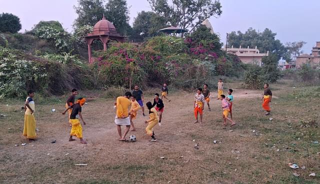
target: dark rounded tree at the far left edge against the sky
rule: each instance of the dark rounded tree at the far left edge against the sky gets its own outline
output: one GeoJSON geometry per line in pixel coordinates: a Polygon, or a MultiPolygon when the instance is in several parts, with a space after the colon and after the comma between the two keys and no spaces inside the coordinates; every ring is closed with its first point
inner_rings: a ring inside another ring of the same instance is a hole
{"type": "Polygon", "coordinates": [[[21,29],[20,18],[11,13],[0,14],[0,31],[16,33],[21,29]]]}

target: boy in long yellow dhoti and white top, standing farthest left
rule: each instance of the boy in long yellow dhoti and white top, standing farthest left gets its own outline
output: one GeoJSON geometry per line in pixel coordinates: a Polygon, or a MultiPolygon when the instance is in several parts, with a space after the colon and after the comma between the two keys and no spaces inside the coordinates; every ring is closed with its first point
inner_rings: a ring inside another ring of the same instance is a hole
{"type": "Polygon", "coordinates": [[[25,136],[29,141],[34,140],[36,137],[35,133],[35,119],[34,119],[34,91],[29,90],[28,96],[24,103],[24,127],[23,136],[25,136]]]}

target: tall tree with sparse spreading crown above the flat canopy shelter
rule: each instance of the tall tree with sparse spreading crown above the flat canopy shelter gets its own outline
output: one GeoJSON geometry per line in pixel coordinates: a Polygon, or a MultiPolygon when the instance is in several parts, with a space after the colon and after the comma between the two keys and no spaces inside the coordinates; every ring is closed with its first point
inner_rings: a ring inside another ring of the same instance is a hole
{"type": "Polygon", "coordinates": [[[218,0],[148,0],[152,11],[167,23],[192,32],[206,18],[222,13],[218,0]],[[169,5],[170,4],[170,5],[169,5]]]}

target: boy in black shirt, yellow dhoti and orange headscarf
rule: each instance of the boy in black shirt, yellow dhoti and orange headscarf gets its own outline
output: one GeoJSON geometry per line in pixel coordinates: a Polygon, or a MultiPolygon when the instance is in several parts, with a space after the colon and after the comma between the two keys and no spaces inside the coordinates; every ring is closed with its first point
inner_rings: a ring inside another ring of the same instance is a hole
{"type": "Polygon", "coordinates": [[[72,136],[76,136],[77,138],[80,139],[80,143],[82,144],[86,144],[86,141],[84,141],[82,138],[82,126],[80,124],[80,120],[78,117],[80,117],[81,121],[83,122],[83,125],[85,125],[85,122],[81,115],[81,111],[82,111],[81,107],[84,105],[84,103],[85,103],[85,98],[78,98],[75,104],[72,104],[70,107],[66,108],[65,111],[62,113],[64,115],[66,111],[68,111],[69,109],[72,109],[70,114],[70,122],[71,122],[72,128],[70,131],[69,141],[75,141],[75,139],[73,139],[72,136]]]}

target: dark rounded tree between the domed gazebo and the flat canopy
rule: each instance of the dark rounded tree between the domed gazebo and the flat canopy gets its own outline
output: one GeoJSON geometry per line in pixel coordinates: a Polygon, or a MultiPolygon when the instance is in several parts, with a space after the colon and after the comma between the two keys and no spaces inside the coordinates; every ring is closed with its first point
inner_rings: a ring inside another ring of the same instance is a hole
{"type": "Polygon", "coordinates": [[[155,36],[158,29],[165,26],[163,17],[152,11],[141,11],[134,18],[131,39],[142,41],[145,38],[155,36]]]}

